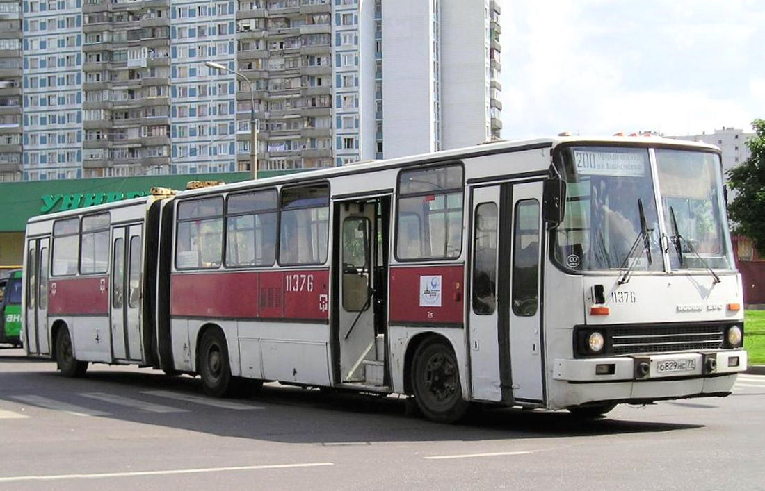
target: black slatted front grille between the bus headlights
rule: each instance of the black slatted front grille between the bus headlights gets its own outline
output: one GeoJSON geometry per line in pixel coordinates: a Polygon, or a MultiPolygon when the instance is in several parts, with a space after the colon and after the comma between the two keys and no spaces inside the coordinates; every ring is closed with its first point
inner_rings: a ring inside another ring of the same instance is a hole
{"type": "Polygon", "coordinates": [[[612,354],[643,354],[723,347],[724,326],[656,326],[614,328],[612,354]]]}

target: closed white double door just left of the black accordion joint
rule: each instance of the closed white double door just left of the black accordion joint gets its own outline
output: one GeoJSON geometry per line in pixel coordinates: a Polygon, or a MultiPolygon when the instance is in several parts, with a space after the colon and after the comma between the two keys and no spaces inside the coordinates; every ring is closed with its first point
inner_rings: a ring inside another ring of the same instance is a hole
{"type": "Polygon", "coordinates": [[[142,227],[128,225],[112,230],[111,323],[112,357],[142,360],[141,257],[142,227]]]}

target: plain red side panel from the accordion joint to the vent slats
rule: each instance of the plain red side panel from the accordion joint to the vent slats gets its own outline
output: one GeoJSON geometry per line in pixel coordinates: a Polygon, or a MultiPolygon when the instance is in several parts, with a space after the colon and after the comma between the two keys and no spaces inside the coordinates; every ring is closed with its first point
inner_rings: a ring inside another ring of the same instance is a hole
{"type": "Polygon", "coordinates": [[[258,273],[175,274],[171,315],[257,317],[258,273]]]}

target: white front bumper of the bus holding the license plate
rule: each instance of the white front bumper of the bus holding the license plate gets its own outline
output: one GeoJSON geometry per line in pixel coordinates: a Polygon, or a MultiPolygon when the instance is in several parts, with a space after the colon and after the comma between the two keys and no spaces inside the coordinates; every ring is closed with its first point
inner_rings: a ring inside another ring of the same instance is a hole
{"type": "Polygon", "coordinates": [[[637,382],[732,375],[744,370],[747,370],[747,352],[726,350],[711,353],[556,359],[552,378],[571,383],[637,382]]]}

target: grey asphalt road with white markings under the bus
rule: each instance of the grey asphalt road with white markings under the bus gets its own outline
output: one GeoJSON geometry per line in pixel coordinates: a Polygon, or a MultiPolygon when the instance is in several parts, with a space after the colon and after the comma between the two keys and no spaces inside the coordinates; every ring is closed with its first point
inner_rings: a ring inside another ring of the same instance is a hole
{"type": "Polygon", "coordinates": [[[392,397],[265,386],[209,399],[198,380],[0,350],[0,490],[765,489],[765,376],[725,399],[476,412],[463,425],[392,397]]]}

